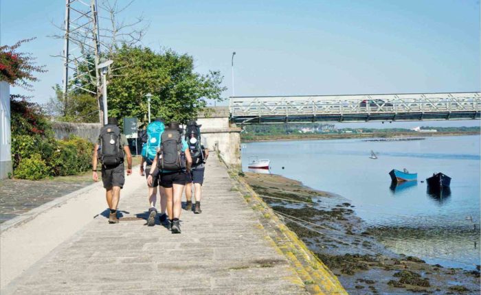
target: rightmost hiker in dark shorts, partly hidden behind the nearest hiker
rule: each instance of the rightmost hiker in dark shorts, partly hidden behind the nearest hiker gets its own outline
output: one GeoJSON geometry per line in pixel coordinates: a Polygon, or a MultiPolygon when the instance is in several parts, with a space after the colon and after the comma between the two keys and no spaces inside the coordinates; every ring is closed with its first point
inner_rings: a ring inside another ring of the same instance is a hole
{"type": "Polygon", "coordinates": [[[209,150],[205,148],[205,145],[201,141],[201,126],[197,125],[197,122],[191,120],[187,123],[186,128],[186,141],[189,145],[190,156],[192,157],[192,167],[190,168],[190,174],[187,175],[186,182],[186,210],[192,211],[192,183],[194,184],[194,198],[195,207],[194,213],[202,213],[201,210],[201,196],[202,196],[202,184],[204,181],[205,161],[209,156],[209,150]]]}

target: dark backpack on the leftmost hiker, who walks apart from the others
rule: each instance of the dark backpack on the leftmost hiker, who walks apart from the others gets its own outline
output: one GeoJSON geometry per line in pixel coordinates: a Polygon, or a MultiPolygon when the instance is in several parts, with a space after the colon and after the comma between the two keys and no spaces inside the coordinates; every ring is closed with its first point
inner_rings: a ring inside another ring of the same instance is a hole
{"type": "Polygon", "coordinates": [[[106,125],[100,130],[99,158],[105,167],[117,166],[124,162],[124,152],[120,146],[120,129],[116,125],[106,125]]]}

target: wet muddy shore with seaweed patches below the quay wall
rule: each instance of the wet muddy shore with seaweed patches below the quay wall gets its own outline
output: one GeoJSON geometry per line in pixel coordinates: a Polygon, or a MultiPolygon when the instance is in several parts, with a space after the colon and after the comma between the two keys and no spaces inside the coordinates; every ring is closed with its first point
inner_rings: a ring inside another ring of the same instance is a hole
{"type": "Polygon", "coordinates": [[[350,294],[480,294],[480,272],[430,265],[385,248],[348,200],[272,174],[245,180],[350,294]]]}

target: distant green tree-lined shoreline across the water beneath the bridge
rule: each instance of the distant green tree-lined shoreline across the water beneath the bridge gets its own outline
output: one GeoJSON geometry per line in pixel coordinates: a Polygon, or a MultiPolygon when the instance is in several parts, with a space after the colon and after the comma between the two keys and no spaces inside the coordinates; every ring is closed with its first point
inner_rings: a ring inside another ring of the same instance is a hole
{"type": "Polygon", "coordinates": [[[258,141],[304,141],[319,139],[369,139],[369,138],[393,138],[393,137],[457,137],[463,135],[479,135],[479,132],[372,132],[372,133],[339,133],[339,134],[289,134],[259,136],[256,139],[242,139],[242,143],[258,141]]]}

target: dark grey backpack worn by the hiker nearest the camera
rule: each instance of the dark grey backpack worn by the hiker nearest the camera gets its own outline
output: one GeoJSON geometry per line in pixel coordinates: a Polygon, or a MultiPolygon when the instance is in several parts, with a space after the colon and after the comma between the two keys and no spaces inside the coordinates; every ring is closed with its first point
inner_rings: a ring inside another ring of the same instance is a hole
{"type": "Polygon", "coordinates": [[[162,170],[181,171],[186,168],[182,152],[182,137],[177,129],[166,129],[160,137],[159,167],[162,170]]]}

